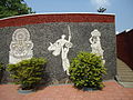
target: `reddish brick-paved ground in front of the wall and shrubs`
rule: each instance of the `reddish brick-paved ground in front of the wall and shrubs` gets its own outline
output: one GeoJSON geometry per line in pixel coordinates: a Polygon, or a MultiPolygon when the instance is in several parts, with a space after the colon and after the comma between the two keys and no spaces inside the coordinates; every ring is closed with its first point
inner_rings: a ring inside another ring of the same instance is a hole
{"type": "Polygon", "coordinates": [[[29,94],[18,93],[16,84],[0,84],[0,100],[133,100],[133,88],[123,88],[115,81],[104,82],[98,91],[81,91],[72,84],[50,86],[29,94]]]}

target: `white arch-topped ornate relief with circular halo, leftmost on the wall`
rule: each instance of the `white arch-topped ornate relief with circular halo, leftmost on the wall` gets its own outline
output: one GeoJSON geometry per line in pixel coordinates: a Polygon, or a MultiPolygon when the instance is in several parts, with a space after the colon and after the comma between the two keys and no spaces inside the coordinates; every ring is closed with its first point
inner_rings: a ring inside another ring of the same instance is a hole
{"type": "Polygon", "coordinates": [[[17,63],[33,56],[33,43],[25,28],[17,29],[12,36],[9,52],[9,63],[17,63]]]}

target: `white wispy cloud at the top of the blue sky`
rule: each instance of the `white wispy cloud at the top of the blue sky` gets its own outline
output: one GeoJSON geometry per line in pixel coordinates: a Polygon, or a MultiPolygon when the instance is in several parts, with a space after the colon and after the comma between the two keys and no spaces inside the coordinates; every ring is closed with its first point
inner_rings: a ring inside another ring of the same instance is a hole
{"type": "Polygon", "coordinates": [[[109,7],[111,6],[109,0],[91,0],[92,4],[94,4],[96,8],[99,7],[109,7]]]}

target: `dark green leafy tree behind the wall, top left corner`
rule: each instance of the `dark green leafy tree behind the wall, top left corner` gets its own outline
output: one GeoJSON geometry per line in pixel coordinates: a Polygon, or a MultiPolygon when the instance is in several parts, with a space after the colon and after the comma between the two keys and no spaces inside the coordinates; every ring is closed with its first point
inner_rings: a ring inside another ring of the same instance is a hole
{"type": "Polygon", "coordinates": [[[0,0],[0,18],[34,13],[24,0],[0,0]]]}

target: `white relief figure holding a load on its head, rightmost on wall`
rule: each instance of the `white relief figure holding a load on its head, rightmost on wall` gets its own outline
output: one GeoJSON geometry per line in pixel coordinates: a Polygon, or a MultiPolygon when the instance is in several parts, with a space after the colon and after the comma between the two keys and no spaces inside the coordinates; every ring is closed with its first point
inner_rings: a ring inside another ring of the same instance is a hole
{"type": "MultiPolygon", "coordinates": [[[[94,29],[91,32],[91,38],[90,38],[90,42],[91,42],[91,48],[92,48],[92,52],[91,53],[95,53],[96,56],[101,56],[102,60],[103,60],[103,49],[101,47],[101,32],[98,31],[96,29],[94,29]]],[[[103,60],[103,63],[105,63],[105,60],[103,60]]]]}

